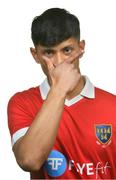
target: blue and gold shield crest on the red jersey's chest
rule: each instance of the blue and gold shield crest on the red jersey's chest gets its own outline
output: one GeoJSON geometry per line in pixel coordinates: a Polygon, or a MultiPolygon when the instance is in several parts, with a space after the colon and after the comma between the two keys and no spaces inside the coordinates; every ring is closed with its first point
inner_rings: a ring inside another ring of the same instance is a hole
{"type": "Polygon", "coordinates": [[[95,134],[98,140],[98,144],[108,145],[111,143],[112,125],[110,124],[98,124],[95,125],[95,134]]]}

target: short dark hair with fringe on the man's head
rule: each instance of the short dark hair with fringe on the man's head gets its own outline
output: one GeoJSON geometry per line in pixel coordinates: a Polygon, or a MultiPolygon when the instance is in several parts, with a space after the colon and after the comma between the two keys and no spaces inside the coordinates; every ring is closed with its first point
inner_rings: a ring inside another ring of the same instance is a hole
{"type": "Polygon", "coordinates": [[[79,20],[65,9],[48,9],[34,18],[31,37],[35,46],[54,46],[70,37],[80,40],[79,20]]]}

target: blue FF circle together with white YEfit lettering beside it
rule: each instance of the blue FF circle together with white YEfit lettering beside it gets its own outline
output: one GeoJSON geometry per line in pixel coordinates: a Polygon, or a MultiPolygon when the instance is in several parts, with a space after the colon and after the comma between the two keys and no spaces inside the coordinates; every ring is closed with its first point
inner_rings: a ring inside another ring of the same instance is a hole
{"type": "Polygon", "coordinates": [[[104,174],[106,177],[110,174],[111,166],[109,161],[106,162],[78,162],[74,159],[69,159],[66,161],[65,156],[57,151],[51,151],[48,159],[44,164],[45,172],[55,178],[58,176],[62,176],[67,170],[68,174],[77,173],[79,177],[90,177],[90,179],[99,179],[101,174],[104,174]]]}

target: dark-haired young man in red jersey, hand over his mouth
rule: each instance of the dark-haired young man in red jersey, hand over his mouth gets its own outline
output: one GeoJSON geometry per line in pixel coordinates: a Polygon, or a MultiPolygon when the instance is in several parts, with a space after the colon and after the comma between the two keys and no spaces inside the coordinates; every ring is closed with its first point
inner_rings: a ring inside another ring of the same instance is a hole
{"type": "Polygon", "coordinates": [[[31,30],[30,50],[47,78],[9,101],[17,163],[31,179],[116,179],[116,97],[81,75],[77,17],[48,9],[31,30]]]}

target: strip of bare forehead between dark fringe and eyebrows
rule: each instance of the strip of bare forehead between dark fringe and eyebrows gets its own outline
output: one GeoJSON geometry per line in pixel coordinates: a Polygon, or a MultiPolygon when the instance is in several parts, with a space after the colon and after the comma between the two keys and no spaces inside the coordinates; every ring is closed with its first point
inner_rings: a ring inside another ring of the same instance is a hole
{"type": "Polygon", "coordinates": [[[60,50],[60,49],[67,47],[67,46],[76,46],[76,45],[78,45],[78,40],[76,38],[69,38],[68,40],[65,40],[65,41],[63,41],[63,42],[61,42],[55,46],[48,47],[48,46],[38,45],[37,49],[38,50],[45,50],[45,49],[60,50]]]}

